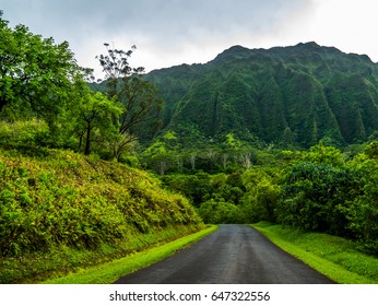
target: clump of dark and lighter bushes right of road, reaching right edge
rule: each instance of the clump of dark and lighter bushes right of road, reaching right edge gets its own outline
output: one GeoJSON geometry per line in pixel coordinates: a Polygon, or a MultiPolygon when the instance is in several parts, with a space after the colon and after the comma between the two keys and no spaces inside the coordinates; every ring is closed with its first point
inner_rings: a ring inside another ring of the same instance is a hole
{"type": "Polygon", "coordinates": [[[277,221],[303,229],[357,239],[377,254],[376,143],[345,162],[340,151],[322,144],[293,164],[282,185],[277,221]]]}

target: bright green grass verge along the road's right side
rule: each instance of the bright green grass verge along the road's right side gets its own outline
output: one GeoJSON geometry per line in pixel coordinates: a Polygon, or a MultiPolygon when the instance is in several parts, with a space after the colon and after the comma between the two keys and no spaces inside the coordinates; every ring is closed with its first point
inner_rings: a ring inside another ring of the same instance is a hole
{"type": "Polygon", "coordinates": [[[378,258],[347,239],[259,222],[251,225],[283,250],[341,284],[378,284],[378,258]]]}

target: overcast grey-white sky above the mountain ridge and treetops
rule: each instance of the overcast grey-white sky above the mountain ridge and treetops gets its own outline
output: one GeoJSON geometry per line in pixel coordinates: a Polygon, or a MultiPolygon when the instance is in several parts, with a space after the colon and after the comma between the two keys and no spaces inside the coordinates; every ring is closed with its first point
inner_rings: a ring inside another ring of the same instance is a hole
{"type": "Polygon", "coordinates": [[[97,69],[103,44],[129,49],[147,71],[212,60],[234,45],[315,40],[378,61],[376,0],[0,0],[11,26],[69,42],[79,64],[97,69]]]}

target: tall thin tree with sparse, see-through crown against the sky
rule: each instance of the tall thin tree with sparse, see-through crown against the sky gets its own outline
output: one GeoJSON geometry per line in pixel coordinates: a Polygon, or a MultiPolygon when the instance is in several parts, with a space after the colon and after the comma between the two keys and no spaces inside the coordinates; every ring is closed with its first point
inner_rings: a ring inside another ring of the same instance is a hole
{"type": "Polygon", "coordinates": [[[160,122],[163,101],[157,89],[143,79],[144,68],[131,68],[129,64],[135,46],[128,51],[110,48],[109,44],[105,47],[107,54],[97,58],[105,72],[106,93],[122,105],[119,133],[126,137],[126,142],[132,142],[147,126],[155,128],[160,122]]]}

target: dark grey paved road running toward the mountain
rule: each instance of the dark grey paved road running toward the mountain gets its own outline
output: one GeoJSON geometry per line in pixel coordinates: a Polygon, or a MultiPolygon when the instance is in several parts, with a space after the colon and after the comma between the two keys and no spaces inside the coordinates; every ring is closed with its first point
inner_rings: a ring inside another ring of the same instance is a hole
{"type": "Polygon", "coordinates": [[[332,283],[247,225],[220,229],[117,284],[318,284],[332,283]]]}

